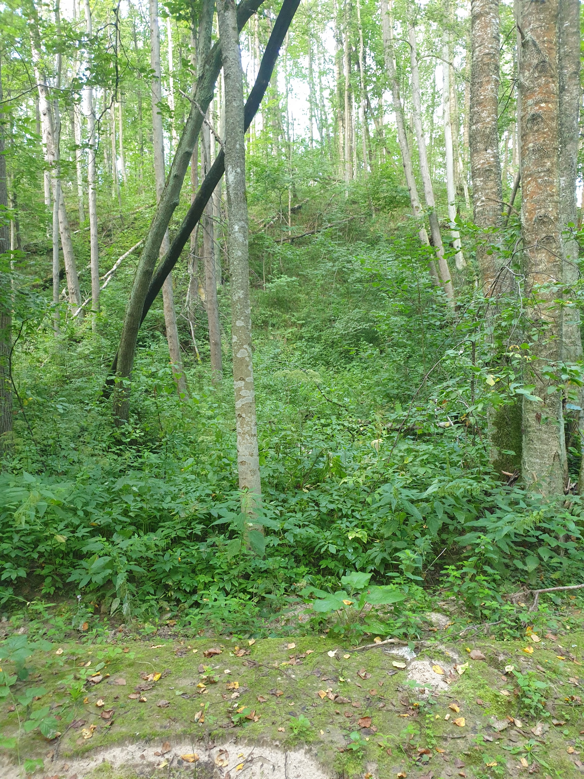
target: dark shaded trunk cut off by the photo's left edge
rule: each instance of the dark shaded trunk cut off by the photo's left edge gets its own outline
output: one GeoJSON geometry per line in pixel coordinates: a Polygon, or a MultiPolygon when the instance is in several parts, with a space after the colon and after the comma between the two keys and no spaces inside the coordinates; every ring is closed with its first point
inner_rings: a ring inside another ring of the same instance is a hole
{"type": "MultiPolygon", "coordinates": [[[[2,62],[0,62],[0,118],[2,111],[2,62]]],[[[0,122],[0,208],[8,208],[6,181],[6,157],[4,141],[5,123],[0,122]]],[[[9,227],[0,220],[0,254],[10,249],[9,227]]],[[[12,386],[10,382],[10,350],[12,348],[12,312],[10,295],[6,289],[0,293],[0,452],[6,453],[12,446],[12,386]]]]}

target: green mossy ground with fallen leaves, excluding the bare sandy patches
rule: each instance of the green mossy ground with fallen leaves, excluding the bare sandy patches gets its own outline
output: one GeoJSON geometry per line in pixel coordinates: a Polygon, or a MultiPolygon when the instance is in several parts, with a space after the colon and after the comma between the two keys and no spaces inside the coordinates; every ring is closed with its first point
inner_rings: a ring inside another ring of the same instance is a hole
{"type": "MultiPolygon", "coordinates": [[[[395,647],[356,652],[329,637],[259,639],[248,646],[247,640],[154,636],[145,641],[120,634],[105,646],[55,644],[50,652],[32,658],[32,681],[47,690],[33,710],[51,705],[61,717],[62,735],[49,743],[39,731],[21,731],[19,753],[44,758],[46,776],[55,775],[47,753],[51,755],[57,743],[59,759],[72,760],[89,750],[136,741],[220,744],[227,739],[271,742],[284,749],[309,742],[319,762],[340,777],[572,777],[584,770],[579,766],[584,749],[579,697],[584,632],[558,635],[557,640],[542,636],[539,643],[453,642],[441,639],[441,631],[433,635],[433,640],[413,645],[417,659],[426,657],[446,667],[458,656],[469,665],[462,675],[455,674],[448,688],[429,697],[408,684],[408,667],[396,668],[394,663],[402,658],[388,651],[395,647]],[[220,654],[204,657],[211,647],[220,654]],[[238,657],[235,647],[248,654],[238,657]],[[524,651],[532,647],[533,654],[524,651]],[[114,648],[122,652],[114,654],[114,648]],[[62,654],[56,654],[60,649],[62,654]],[[480,650],[485,659],[470,659],[467,649],[480,650]],[[78,675],[81,668],[91,671],[99,657],[106,661],[106,675],[96,685],[88,684],[83,702],[74,705],[62,680],[78,675]],[[539,716],[522,710],[515,679],[505,673],[510,664],[523,675],[534,671],[534,679],[548,683],[546,709],[539,716]],[[160,679],[145,681],[142,675],[150,673],[160,673],[160,679]],[[145,700],[129,698],[140,684],[150,685],[138,691],[145,700]],[[322,697],[327,692],[340,700],[322,697]],[[449,708],[451,704],[459,712],[449,708]],[[237,717],[242,707],[246,711],[240,714],[249,710],[252,718],[237,717]],[[110,720],[101,717],[104,710],[113,710],[110,720]],[[301,715],[310,724],[295,734],[301,715]],[[459,717],[464,717],[462,727],[453,722],[459,717]],[[520,726],[508,718],[518,719],[520,726]],[[493,722],[508,725],[498,731],[493,722]],[[92,724],[93,735],[83,738],[83,728],[87,731],[92,724]],[[353,736],[354,749],[351,733],[358,734],[353,736]]],[[[0,731],[6,736],[19,731],[18,707],[11,708],[11,700],[0,708],[0,731]]],[[[101,767],[101,774],[104,771],[118,776],[107,766],[101,767]]]]}

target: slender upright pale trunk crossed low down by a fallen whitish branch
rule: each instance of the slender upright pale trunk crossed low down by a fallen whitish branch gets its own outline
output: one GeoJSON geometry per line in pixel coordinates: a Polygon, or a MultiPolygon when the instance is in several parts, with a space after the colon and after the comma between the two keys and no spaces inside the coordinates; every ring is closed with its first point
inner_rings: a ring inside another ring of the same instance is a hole
{"type": "MultiPolygon", "coordinates": [[[[90,0],[84,0],[85,26],[87,40],[93,37],[90,0]]],[[[91,44],[90,44],[91,45],[91,44]]],[[[86,66],[88,63],[86,63],[86,66]]],[[[93,108],[93,87],[87,85],[83,90],[83,110],[87,119],[87,200],[90,213],[90,269],[91,269],[91,326],[97,329],[97,317],[100,312],[100,263],[97,244],[97,144],[95,137],[96,116],[93,108]]]]}

